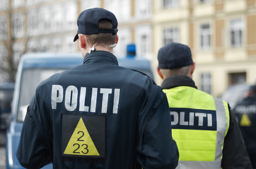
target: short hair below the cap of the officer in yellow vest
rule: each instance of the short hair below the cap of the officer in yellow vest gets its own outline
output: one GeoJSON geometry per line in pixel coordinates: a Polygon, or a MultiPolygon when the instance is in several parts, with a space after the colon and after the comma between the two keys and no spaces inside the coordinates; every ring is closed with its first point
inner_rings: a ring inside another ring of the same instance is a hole
{"type": "Polygon", "coordinates": [[[191,65],[187,65],[181,68],[173,68],[173,69],[160,69],[163,77],[169,77],[172,75],[189,75],[190,74],[191,65]]]}

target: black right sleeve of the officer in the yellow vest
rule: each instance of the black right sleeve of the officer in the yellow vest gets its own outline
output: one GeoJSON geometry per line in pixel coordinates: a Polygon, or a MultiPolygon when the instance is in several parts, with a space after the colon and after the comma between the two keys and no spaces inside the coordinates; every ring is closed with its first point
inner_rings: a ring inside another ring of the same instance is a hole
{"type": "Polygon", "coordinates": [[[235,114],[229,108],[230,112],[230,125],[228,132],[224,139],[223,145],[223,158],[221,161],[221,167],[226,168],[243,168],[250,169],[252,165],[250,158],[245,149],[245,143],[243,142],[243,136],[240,132],[238,123],[235,120],[235,114]]]}

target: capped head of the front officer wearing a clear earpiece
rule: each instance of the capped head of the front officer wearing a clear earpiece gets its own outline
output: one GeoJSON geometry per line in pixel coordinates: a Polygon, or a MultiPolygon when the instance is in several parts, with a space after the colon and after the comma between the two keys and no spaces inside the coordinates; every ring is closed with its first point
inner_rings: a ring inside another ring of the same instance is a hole
{"type": "Polygon", "coordinates": [[[74,42],[79,39],[82,51],[94,51],[98,44],[112,49],[118,42],[117,18],[103,8],[86,9],[78,16],[77,25],[74,42]]]}

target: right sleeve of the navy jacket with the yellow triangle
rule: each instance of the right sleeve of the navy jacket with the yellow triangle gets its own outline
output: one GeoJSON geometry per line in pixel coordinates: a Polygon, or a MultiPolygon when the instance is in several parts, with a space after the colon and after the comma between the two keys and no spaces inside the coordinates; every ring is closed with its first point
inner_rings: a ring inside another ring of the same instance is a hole
{"type": "Polygon", "coordinates": [[[146,86],[139,115],[137,160],[145,169],[175,168],[179,152],[171,134],[170,111],[161,87],[146,86]]]}

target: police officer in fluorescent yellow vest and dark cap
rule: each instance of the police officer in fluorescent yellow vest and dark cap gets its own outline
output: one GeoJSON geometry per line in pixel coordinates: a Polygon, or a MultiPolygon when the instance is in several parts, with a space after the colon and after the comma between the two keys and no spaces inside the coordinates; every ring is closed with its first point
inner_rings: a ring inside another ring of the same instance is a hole
{"type": "Polygon", "coordinates": [[[158,75],[168,97],[177,168],[252,168],[243,137],[226,101],[197,89],[187,45],[171,42],[158,51],[158,75]]]}

